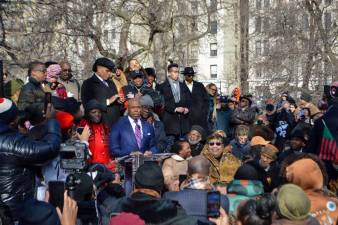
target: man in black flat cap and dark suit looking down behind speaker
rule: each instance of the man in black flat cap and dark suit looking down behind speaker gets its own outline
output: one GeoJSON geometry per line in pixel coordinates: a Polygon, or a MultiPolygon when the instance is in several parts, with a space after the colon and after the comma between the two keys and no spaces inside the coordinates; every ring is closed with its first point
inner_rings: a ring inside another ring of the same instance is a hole
{"type": "Polygon", "coordinates": [[[108,58],[98,58],[93,65],[93,76],[83,82],[81,99],[84,105],[96,99],[105,106],[103,122],[110,128],[121,116],[121,101],[110,76],[115,69],[108,58]]]}

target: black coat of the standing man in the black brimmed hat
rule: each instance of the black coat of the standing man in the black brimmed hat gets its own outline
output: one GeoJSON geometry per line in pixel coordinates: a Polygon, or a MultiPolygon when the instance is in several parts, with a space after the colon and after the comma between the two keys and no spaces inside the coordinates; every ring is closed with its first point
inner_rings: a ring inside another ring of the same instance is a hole
{"type": "Polygon", "coordinates": [[[194,103],[191,105],[191,125],[200,125],[205,131],[208,131],[209,96],[201,82],[193,82],[191,99],[194,103]]]}

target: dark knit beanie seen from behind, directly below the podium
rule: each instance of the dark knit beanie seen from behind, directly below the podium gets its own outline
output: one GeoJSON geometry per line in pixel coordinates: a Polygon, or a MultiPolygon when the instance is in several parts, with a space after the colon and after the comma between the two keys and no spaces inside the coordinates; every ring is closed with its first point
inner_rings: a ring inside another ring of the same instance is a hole
{"type": "Polygon", "coordinates": [[[135,174],[135,187],[146,188],[160,193],[164,186],[164,177],[160,166],[154,162],[145,162],[135,174]]]}

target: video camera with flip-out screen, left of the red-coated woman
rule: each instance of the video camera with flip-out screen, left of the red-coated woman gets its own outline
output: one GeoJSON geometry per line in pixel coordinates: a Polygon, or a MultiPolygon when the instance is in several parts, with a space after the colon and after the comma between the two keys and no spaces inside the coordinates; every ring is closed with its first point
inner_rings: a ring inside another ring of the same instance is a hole
{"type": "Polygon", "coordinates": [[[61,144],[60,165],[66,171],[84,170],[88,157],[88,148],[84,143],[69,141],[61,144]]]}

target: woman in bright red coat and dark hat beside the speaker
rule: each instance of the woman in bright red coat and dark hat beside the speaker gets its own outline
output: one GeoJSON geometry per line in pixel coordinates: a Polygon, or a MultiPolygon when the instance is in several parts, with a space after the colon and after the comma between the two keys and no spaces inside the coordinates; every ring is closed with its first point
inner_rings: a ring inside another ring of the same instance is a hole
{"type": "Polygon", "coordinates": [[[91,153],[89,163],[103,164],[115,172],[115,161],[110,155],[108,146],[109,130],[102,122],[102,111],[103,106],[97,100],[90,100],[85,105],[85,116],[78,127],[84,128],[83,132],[89,130],[88,144],[91,153]]]}

